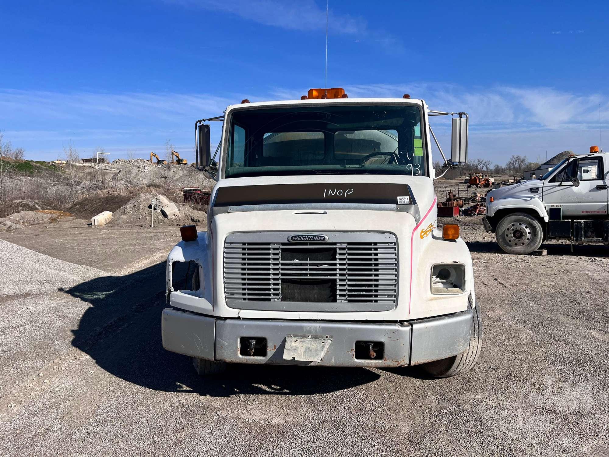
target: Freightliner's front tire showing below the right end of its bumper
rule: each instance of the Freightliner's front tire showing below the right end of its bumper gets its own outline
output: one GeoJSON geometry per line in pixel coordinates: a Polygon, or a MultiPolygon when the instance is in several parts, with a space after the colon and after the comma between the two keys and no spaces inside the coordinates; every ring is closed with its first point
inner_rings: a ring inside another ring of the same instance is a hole
{"type": "Polygon", "coordinates": [[[476,364],[482,349],[482,313],[480,305],[476,303],[474,311],[474,325],[471,329],[470,346],[465,352],[442,360],[421,365],[423,369],[435,378],[449,378],[462,374],[476,364]]]}

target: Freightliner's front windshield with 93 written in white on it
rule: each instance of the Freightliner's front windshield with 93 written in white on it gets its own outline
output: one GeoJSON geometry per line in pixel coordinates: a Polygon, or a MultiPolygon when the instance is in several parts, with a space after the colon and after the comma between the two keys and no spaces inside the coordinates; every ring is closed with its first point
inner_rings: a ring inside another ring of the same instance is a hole
{"type": "Polygon", "coordinates": [[[225,177],[427,175],[420,108],[326,105],[234,112],[225,177]]]}

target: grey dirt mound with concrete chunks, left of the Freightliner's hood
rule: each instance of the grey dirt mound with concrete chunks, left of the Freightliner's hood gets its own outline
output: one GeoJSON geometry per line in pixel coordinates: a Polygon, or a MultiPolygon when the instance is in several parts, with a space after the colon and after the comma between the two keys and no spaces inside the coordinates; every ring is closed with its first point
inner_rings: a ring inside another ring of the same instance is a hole
{"type": "Polygon", "coordinates": [[[139,225],[140,227],[149,227],[152,213],[152,199],[160,202],[155,205],[155,225],[205,225],[207,223],[207,215],[203,211],[193,210],[187,205],[176,204],[156,192],[143,192],[121,208],[118,208],[118,210],[113,211],[112,221],[108,225],[118,225],[119,227],[139,225]],[[177,214],[167,218],[163,215],[167,211],[161,211],[161,207],[165,209],[172,204],[177,208],[177,214]]]}

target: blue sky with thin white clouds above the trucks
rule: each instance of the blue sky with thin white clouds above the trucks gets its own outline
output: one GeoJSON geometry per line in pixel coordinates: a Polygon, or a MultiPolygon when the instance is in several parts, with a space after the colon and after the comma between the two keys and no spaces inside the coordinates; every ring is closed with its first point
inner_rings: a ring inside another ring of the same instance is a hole
{"type": "MultiPolygon", "coordinates": [[[[323,87],[325,2],[2,2],[0,130],[26,158],[194,159],[194,121],[323,87]]],[[[328,87],[470,113],[470,157],[609,148],[609,2],[329,1],[328,87]]],[[[434,122],[439,122],[434,119],[434,122]]],[[[219,129],[213,131],[213,141],[219,129]]],[[[437,124],[442,143],[448,124],[437,124]]],[[[448,149],[449,144],[446,144],[448,149]]],[[[506,157],[507,156],[507,157],[506,157]]]]}

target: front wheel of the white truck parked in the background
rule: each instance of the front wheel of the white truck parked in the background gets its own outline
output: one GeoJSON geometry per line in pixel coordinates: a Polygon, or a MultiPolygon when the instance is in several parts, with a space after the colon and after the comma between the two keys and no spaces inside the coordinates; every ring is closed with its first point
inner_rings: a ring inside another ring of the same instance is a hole
{"type": "Polygon", "coordinates": [[[508,214],[499,221],[495,236],[499,247],[509,254],[528,254],[539,249],[543,228],[530,214],[508,214]]]}

